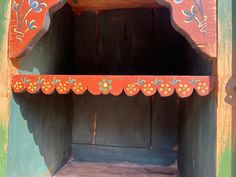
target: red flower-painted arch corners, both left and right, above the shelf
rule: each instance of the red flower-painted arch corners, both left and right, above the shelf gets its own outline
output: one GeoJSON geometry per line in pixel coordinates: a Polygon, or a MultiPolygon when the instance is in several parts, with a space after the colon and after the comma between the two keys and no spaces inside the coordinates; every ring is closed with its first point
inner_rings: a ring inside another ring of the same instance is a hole
{"type": "MultiPolygon", "coordinates": [[[[156,1],[171,9],[173,26],[194,48],[210,58],[216,58],[216,0],[156,1]]],[[[22,57],[34,47],[48,30],[51,15],[65,2],[66,0],[12,0],[10,58],[22,57]]]]}

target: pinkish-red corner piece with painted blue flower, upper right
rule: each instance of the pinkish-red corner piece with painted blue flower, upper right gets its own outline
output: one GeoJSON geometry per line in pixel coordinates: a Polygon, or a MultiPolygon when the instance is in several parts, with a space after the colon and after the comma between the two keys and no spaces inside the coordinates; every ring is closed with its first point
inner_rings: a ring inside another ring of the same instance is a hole
{"type": "Polygon", "coordinates": [[[172,12],[173,26],[201,53],[216,58],[216,0],[156,0],[172,12]]]}

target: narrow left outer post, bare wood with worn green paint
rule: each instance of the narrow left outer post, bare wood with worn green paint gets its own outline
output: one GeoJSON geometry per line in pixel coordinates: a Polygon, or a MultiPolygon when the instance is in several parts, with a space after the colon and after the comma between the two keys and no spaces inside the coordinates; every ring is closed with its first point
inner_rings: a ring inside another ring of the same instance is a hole
{"type": "Polygon", "coordinates": [[[8,61],[8,23],[10,1],[0,0],[0,176],[7,174],[8,122],[10,109],[9,78],[15,74],[8,61]]]}

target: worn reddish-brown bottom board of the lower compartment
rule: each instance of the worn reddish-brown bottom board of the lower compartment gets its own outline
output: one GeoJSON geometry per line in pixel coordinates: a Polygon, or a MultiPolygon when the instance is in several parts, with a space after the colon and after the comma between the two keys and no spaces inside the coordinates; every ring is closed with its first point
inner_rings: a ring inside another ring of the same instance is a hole
{"type": "Polygon", "coordinates": [[[69,161],[54,177],[179,177],[175,166],[69,161]]]}

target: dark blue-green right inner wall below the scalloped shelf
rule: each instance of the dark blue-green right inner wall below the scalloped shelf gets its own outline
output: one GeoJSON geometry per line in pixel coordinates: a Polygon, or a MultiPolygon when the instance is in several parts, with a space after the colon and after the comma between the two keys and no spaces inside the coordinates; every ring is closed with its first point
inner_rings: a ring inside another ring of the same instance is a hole
{"type": "Polygon", "coordinates": [[[214,93],[206,97],[195,93],[180,100],[178,157],[181,177],[216,176],[215,101],[214,93]]]}

